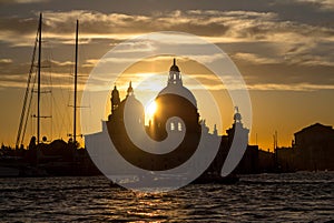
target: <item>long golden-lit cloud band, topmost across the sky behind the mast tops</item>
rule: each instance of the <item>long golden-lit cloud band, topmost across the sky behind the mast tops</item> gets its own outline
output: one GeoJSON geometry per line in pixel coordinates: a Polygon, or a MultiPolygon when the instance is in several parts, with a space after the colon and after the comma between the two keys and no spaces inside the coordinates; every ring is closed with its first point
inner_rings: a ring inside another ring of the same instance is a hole
{"type": "MultiPolygon", "coordinates": [[[[101,13],[97,11],[73,10],[66,12],[46,11],[45,31],[49,38],[72,39],[75,21],[80,20],[81,38],[126,39],[134,34],[153,31],[183,31],[202,37],[217,37],[224,42],[279,41],[292,42],[303,37],[324,39],[334,34],[333,29],[310,24],[281,21],[274,12],[189,10],[141,16],[125,13],[101,13]]],[[[37,21],[33,19],[3,18],[2,31],[6,33],[27,33],[33,36],[37,21]],[[14,26],[11,26],[14,24],[14,26]]],[[[13,41],[2,38],[3,41],[13,41]]],[[[18,39],[17,39],[18,40],[18,39]]],[[[299,39],[301,41],[301,39],[299,39]]]]}

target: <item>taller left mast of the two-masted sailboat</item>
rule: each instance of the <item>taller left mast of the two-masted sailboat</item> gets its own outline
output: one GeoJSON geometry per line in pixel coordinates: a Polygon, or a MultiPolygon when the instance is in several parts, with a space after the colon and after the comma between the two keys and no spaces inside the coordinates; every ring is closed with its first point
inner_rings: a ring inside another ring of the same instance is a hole
{"type": "Polygon", "coordinates": [[[40,13],[40,16],[39,16],[39,37],[38,37],[37,143],[40,142],[40,68],[41,68],[41,31],[42,31],[42,13],[40,13]]]}

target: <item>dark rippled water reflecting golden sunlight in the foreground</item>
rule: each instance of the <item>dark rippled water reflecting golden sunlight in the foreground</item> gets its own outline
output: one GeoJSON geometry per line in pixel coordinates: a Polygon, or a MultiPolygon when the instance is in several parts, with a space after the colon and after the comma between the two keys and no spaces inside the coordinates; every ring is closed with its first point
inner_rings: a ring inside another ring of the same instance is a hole
{"type": "Polygon", "coordinates": [[[242,176],[161,194],[105,178],[0,179],[0,222],[333,222],[334,172],[242,176]]]}

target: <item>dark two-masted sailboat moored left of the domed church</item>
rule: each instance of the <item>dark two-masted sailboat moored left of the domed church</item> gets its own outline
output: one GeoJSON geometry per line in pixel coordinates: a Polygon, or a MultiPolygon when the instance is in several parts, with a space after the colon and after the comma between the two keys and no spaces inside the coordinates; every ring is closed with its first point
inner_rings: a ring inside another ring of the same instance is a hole
{"type": "MultiPolygon", "coordinates": [[[[80,150],[77,143],[77,82],[78,82],[78,36],[79,21],[76,26],[76,54],[75,54],[75,74],[73,74],[73,129],[72,133],[68,134],[71,139],[65,142],[61,139],[47,142],[46,138],[41,138],[41,119],[47,116],[41,115],[41,48],[42,48],[42,13],[39,17],[39,24],[32,61],[27,82],[26,94],[23,98],[23,107],[18,128],[16,150],[23,151],[19,155],[21,161],[16,164],[16,169],[20,170],[20,175],[23,176],[45,176],[45,175],[95,175],[99,174],[86,150],[80,150]],[[33,78],[37,55],[37,74],[33,78]],[[21,145],[24,140],[28,118],[30,118],[32,93],[35,92],[33,79],[37,79],[37,114],[36,118],[37,135],[31,136],[27,150],[21,145]]],[[[0,163],[1,164],[1,163],[0,163]]],[[[0,165],[1,166],[1,165],[0,165]]],[[[1,175],[0,175],[1,176],[1,175]]]]}

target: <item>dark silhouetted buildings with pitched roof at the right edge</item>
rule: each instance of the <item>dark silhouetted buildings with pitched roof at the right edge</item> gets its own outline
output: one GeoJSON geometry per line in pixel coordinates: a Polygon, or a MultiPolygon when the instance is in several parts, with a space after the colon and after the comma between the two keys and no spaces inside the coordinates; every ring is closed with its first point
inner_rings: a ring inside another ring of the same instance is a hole
{"type": "Polygon", "coordinates": [[[259,151],[261,172],[333,171],[334,130],[315,123],[294,133],[291,146],[259,151]]]}

